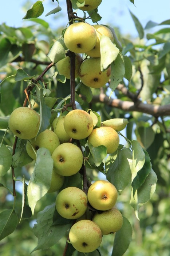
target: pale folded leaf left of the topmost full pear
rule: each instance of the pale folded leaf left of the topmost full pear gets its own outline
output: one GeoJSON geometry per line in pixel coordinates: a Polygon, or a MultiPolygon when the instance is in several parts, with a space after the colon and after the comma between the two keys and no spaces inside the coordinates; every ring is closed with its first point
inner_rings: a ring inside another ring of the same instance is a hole
{"type": "Polygon", "coordinates": [[[54,45],[51,47],[50,52],[47,55],[52,62],[56,63],[66,57],[64,46],[65,44],[63,39],[59,39],[54,43],[54,45]]]}

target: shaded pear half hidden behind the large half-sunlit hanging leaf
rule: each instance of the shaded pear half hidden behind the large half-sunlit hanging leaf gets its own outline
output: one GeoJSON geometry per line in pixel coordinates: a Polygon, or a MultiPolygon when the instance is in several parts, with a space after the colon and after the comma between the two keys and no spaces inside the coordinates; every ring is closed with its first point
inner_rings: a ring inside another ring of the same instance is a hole
{"type": "Polygon", "coordinates": [[[64,184],[64,176],[56,173],[54,169],[52,170],[51,187],[49,188],[47,193],[58,191],[64,184]]]}

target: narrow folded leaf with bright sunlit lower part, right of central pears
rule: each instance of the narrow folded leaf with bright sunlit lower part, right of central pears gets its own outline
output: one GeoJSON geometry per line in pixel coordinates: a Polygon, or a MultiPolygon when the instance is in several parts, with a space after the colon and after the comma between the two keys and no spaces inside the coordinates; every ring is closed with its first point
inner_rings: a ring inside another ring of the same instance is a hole
{"type": "Polygon", "coordinates": [[[134,178],[137,176],[137,173],[139,170],[142,169],[144,163],[145,163],[145,153],[143,151],[143,148],[137,142],[137,140],[132,141],[132,182],[134,178]]]}

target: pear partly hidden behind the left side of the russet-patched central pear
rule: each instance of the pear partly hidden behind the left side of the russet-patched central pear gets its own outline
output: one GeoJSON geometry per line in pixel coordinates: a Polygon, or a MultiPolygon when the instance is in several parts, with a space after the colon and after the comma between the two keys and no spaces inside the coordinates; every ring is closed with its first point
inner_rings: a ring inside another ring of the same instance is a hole
{"type": "Polygon", "coordinates": [[[67,135],[65,129],[64,129],[64,118],[65,116],[60,116],[54,119],[52,122],[52,130],[55,132],[55,134],[58,136],[60,143],[69,142],[70,136],[67,135]]]}

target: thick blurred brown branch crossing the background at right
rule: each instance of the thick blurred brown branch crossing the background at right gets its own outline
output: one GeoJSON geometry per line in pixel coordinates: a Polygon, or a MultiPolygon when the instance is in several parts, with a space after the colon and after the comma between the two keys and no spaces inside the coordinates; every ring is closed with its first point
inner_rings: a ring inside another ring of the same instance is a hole
{"type": "MultiPolygon", "coordinates": [[[[84,96],[82,95],[82,99],[84,96]]],[[[114,108],[122,109],[124,111],[138,111],[146,114],[150,114],[152,116],[169,116],[170,115],[170,104],[165,106],[156,106],[151,104],[144,104],[141,101],[134,103],[132,101],[121,101],[120,99],[109,99],[104,93],[100,93],[99,95],[94,95],[92,97],[91,103],[94,102],[103,102],[108,106],[112,106],[114,108]]]]}

